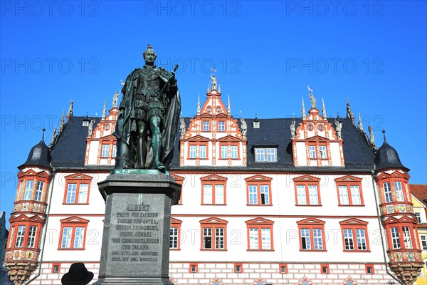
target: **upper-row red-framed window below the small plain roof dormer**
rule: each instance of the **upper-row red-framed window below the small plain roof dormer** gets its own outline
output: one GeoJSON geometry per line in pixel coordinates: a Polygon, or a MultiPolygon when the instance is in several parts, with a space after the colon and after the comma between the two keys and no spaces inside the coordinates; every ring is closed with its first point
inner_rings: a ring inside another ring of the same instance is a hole
{"type": "Polygon", "coordinates": [[[271,180],[273,178],[263,175],[255,175],[246,180],[246,195],[248,205],[270,205],[271,201],[271,180]]]}

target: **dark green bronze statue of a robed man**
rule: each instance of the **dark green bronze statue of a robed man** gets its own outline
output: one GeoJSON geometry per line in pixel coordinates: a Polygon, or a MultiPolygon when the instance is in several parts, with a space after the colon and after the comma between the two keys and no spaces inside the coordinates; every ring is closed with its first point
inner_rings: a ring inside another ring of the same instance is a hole
{"type": "Polygon", "coordinates": [[[154,66],[152,46],[145,65],[127,76],[113,135],[117,138],[116,169],[156,169],[167,173],[181,112],[174,72],[154,66]]]}

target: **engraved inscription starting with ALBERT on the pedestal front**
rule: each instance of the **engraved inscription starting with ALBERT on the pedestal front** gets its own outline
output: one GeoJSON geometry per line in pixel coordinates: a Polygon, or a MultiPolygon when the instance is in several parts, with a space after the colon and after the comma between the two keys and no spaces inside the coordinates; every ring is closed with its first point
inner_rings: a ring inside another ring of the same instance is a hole
{"type": "Polygon", "coordinates": [[[112,262],[157,262],[159,240],[159,213],[149,204],[128,204],[117,212],[117,235],[112,244],[120,244],[120,251],[111,253],[112,262]]]}

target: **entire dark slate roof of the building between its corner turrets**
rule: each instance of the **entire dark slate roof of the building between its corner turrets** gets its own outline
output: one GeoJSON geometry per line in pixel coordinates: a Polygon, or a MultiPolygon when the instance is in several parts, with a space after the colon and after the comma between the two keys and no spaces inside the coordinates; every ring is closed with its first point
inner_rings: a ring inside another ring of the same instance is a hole
{"type": "MultiPolygon", "coordinates": [[[[86,135],[88,127],[82,126],[85,117],[72,117],[65,125],[51,152],[52,166],[56,168],[84,168],[85,170],[109,170],[111,166],[84,166],[86,135]]],[[[95,118],[100,122],[100,118],[95,118]]],[[[190,118],[184,118],[186,125],[190,118]]],[[[300,118],[258,119],[260,128],[253,129],[253,119],[245,119],[248,124],[248,166],[247,167],[204,167],[204,170],[270,170],[270,171],[301,171],[301,172],[369,172],[374,169],[374,152],[369,147],[364,135],[359,133],[351,120],[342,118],[342,138],[345,167],[295,167],[292,160],[290,145],[290,124],[300,118]],[[255,162],[253,145],[278,145],[278,162],[255,162]]],[[[330,123],[334,118],[328,119],[330,123]]],[[[177,132],[172,169],[200,170],[200,167],[179,167],[179,136],[177,132]]]]}

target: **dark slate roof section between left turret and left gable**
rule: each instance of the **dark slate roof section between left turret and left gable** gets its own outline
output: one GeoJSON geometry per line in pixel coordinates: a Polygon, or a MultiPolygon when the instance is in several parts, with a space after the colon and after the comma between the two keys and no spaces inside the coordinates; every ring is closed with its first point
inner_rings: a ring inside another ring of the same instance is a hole
{"type": "MultiPolygon", "coordinates": [[[[88,127],[83,127],[85,117],[71,117],[64,125],[63,132],[56,141],[52,155],[53,167],[84,167],[86,152],[86,136],[88,127]]],[[[95,118],[95,125],[100,123],[95,118]]]]}

